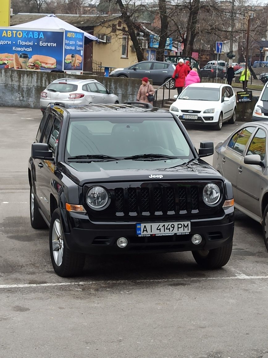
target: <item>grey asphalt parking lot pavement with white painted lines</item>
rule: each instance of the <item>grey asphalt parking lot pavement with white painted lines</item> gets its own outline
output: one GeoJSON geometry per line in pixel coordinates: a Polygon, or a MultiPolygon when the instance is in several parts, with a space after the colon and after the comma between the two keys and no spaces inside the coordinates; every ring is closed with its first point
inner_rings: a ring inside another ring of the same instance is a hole
{"type": "MultiPolygon", "coordinates": [[[[1,107],[0,117],[0,357],[263,357],[268,253],[260,224],[236,212],[233,253],[219,270],[199,269],[187,252],[88,257],[81,277],[59,277],[48,229],[32,229],[29,217],[27,160],[41,112],[1,107]]],[[[237,125],[189,134],[198,148],[237,125]]]]}

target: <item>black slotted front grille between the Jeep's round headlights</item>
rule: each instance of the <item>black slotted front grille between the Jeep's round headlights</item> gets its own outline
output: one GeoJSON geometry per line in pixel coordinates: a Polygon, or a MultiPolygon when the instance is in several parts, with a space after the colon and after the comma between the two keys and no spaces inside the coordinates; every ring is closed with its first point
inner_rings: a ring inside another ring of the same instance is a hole
{"type": "Polygon", "coordinates": [[[198,187],[153,187],[115,189],[117,215],[172,215],[197,213],[198,187]]]}

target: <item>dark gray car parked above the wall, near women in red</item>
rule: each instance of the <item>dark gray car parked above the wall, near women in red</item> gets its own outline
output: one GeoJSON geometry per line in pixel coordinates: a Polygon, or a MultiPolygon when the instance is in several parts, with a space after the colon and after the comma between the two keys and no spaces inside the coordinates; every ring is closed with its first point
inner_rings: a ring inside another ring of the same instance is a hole
{"type": "Polygon", "coordinates": [[[172,78],[174,70],[175,64],[170,62],[142,61],[129,67],[116,68],[109,74],[109,76],[140,79],[142,77],[148,77],[153,80],[153,84],[158,86],[165,83],[170,78],[166,87],[173,89],[175,88],[175,81],[172,78]]]}

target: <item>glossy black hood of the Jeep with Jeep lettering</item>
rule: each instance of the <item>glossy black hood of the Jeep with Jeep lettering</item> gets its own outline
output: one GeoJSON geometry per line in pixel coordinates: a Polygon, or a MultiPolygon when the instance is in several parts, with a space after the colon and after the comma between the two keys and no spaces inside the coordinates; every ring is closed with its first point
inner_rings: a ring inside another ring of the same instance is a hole
{"type": "Polygon", "coordinates": [[[182,163],[181,159],[166,161],[118,160],[91,163],[59,162],[57,168],[80,186],[86,183],[115,181],[222,179],[221,174],[202,159],[197,159],[191,164],[182,163]]]}

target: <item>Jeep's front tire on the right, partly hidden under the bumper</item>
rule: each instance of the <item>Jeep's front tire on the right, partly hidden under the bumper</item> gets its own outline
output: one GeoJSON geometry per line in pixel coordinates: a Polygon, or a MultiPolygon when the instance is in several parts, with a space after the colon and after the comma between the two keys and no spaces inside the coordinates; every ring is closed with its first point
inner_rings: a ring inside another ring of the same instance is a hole
{"type": "Polygon", "coordinates": [[[212,250],[192,251],[196,263],[206,269],[219,269],[227,264],[232,253],[233,240],[222,247],[212,250]]]}

